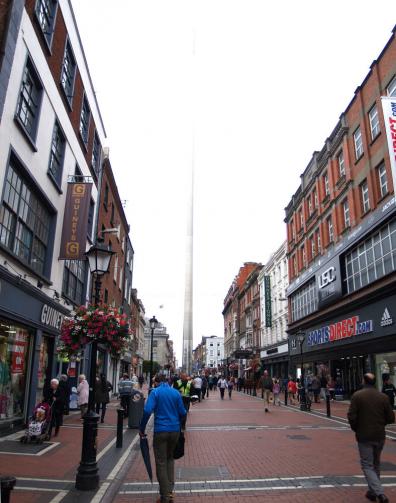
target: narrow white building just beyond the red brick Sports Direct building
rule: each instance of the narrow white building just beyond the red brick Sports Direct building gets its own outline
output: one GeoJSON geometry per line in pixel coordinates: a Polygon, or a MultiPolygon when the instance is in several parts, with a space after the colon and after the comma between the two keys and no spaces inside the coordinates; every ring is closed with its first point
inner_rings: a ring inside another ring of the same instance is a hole
{"type": "Polygon", "coordinates": [[[272,376],[287,377],[289,348],[286,332],[288,320],[285,293],[288,286],[286,242],[271,255],[259,274],[258,283],[261,310],[261,363],[272,376]]]}

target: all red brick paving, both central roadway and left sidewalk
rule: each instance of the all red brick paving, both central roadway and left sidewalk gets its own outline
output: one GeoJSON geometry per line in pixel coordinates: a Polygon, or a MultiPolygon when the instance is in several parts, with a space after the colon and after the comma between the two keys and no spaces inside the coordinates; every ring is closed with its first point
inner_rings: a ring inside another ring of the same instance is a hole
{"type": "MultiPolygon", "coordinates": [[[[74,415],[54,439],[59,444],[42,456],[0,452],[2,474],[18,479],[12,503],[155,502],[158,486],[148,480],[136,431],[126,430],[123,449],[115,448],[116,407],[113,402],[99,429],[96,495],[73,489],[82,436],[74,415]]],[[[232,400],[221,401],[213,392],[191,408],[186,454],[176,461],[177,502],[367,501],[354,435],[342,419],[347,407],[332,403],[337,418],[331,420],[323,415],[323,403],[312,414],[283,405],[265,414],[260,398],[234,393],[232,400]]],[[[394,426],[388,434],[382,474],[390,500],[396,501],[394,426]]]]}

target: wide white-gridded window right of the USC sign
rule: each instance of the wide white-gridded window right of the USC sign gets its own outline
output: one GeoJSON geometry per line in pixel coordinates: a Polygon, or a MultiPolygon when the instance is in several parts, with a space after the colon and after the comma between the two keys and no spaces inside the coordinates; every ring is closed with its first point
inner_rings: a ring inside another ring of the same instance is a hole
{"type": "Polygon", "coordinates": [[[345,285],[354,292],[396,270],[396,219],[345,255],[345,285]]]}

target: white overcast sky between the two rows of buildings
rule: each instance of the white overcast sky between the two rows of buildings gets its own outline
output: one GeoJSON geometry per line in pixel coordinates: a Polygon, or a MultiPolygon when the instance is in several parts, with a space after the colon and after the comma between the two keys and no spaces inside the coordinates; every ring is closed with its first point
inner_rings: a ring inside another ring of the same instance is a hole
{"type": "Polygon", "coordinates": [[[390,38],[394,0],[72,3],[127,201],[133,286],[181,364],[193,157],[195,346],[223,335],[243,262],[285,239],[299,175],[390,38]]]}

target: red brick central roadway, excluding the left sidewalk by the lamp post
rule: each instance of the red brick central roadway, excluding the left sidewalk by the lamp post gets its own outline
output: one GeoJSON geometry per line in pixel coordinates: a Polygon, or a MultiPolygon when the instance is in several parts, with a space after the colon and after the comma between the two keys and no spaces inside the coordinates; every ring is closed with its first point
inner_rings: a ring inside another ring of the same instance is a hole
{"type": "MultiPolygon", "coordinates": [[[[347,404],[334,406],[341,419],[283,405],[263,409],[260,398],[234,393],[222,401],[217,392],[191,408],[185,456],[176,461],[177,503],[367,501],[354,434],[342,420],[347,404]]],[[[382,478],[396,501],[396,434],[389,435],[382,478]]],[[[117,493],[116,503],[156,501],[157,484],[138,452],[117,493]]]]}

